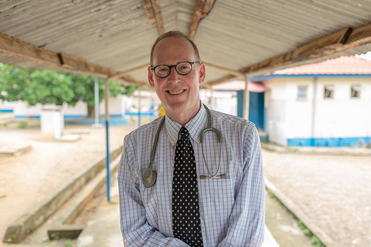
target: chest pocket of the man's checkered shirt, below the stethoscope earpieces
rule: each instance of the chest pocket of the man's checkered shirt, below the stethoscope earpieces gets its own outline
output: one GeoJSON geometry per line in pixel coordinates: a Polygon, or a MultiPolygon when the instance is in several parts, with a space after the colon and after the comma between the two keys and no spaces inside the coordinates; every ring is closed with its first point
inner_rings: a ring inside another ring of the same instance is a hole
{"type": "Polygon", "coordinates": [[[233,178],[208,178],[201,184],[206,194],[208,214],[212,218],[228,219],[234,206],[233,178]]]}

